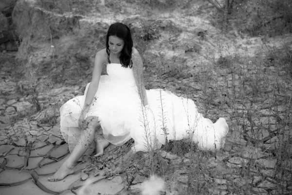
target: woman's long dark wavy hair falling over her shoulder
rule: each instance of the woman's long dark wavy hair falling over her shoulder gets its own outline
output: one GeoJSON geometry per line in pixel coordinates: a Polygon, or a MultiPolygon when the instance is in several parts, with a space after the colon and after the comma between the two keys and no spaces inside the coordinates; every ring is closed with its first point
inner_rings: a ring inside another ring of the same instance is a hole
{"type": "Polygon", "coordinates": [[[124,47],[121,51],[121,55],[119,57],[122,67],[132,68],[131,54],[133,47],[133,40],[131,36],[131,31],[129,27],[123,23],[116,22],[110,25],[107,34],[107,53],[108,53],[108,62],[110,63],[110,49],[109,49],[109,36],[116,36],[124,40],[124,47]]]}

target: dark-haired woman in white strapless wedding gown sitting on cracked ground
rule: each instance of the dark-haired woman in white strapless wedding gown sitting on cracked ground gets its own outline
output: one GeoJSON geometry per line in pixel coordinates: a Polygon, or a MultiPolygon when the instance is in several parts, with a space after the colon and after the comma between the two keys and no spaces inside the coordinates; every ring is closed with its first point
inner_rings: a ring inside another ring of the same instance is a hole
{"type": "Polygon", "coordinates": [[[103,155],[110,143],[131,138],[133,152],[158,149],[167,140],[188,139],[204,150],[219,149],[228,132],[225,119],[213,124],[202,117],[194,102],[162,89],[146,90],[143,63],[123,23],[110,25],[106,48],[95,55],[91,83],[82,96],[60,108],[60,130],[71,155],[50,181],[73,174],[83,154],[103,155]],[[103,65],[108,75],[101,75],[103,65]],[[102,129],[100,133],[96,129],[102,129]],[[93,142],[95,141],[95,142],[93,142]]]}

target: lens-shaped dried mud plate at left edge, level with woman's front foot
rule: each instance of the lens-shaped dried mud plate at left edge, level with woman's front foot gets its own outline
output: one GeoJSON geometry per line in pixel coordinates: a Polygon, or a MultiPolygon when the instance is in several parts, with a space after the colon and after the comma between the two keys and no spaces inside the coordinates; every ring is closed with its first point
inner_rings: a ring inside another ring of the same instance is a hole
{"type": "Polygon", "coordinates": [[[5,185],[20,185],[32,178],[29,173],[21,172],[18,170],[10,169],[0,173],[0,186],[5,185]]]}

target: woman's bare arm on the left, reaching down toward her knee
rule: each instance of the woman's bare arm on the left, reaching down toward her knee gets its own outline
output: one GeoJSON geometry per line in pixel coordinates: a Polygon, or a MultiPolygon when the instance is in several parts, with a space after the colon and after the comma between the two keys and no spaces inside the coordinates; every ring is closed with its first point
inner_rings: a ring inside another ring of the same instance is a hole
{"type": "Polygon", "coordinates": [[[94,95],[98,89],[98,84],[101,76],[101,71],[104,63],[104,55],[103,51],[99,51],[95,55],[95,60],[94,60],[94,67],[93,67],[93,72],[92,72],[92,78],[91,78],[91,83],[88,87],[86,97],[85,97],[85,102],[83,106],[83,117],[87,114],[89,111],[90,105],[93,101],[94,95]]]}

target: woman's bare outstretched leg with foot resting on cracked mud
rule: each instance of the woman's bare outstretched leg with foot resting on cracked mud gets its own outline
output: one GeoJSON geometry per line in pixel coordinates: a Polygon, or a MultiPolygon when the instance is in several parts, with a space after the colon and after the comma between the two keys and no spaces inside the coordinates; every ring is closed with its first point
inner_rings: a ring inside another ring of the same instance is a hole
{"type": "Polygon", "coordinates": [[[91,142],[94,139],[95,128],[100,124],[98,122],[98,117],[88,117],[83,126],[80,134],[80,138],[74,147],[69,158],[61,165],[59,170],[51,177],[48,178],[49,181],[58,181],[64,177],[73,174],[73,167],[77,160],[86,152],[91,142]]]}

